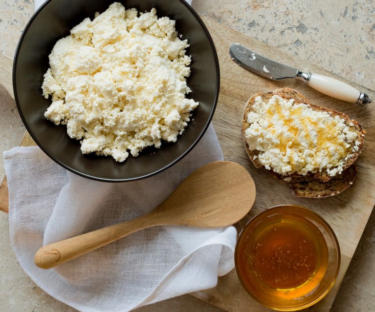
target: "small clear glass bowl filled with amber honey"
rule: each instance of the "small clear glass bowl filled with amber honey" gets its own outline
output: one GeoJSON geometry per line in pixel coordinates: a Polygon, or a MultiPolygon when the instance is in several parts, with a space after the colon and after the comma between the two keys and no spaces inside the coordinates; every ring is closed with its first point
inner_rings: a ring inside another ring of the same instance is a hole
{"type": "Polygon", "coordinates": [[[330,225],[314,211],[293,205],[252,218],[235,249],[244,289],[278,311],[305,309],[321,300],[336,281],[340,259],[330,225]]]}

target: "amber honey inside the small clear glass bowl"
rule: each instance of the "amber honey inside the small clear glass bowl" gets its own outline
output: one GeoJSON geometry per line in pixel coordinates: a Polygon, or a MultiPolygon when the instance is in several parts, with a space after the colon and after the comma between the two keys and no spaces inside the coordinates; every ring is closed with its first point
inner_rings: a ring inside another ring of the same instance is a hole
{"type": "Polygon", "coordinates": [[[321,287],[329,249],[321,230],[303,215],[311,212],[299,212],[265,211],[239,237],[236,270],[245,289],[260,301],[272,298],[276,305],[321,287]]]}

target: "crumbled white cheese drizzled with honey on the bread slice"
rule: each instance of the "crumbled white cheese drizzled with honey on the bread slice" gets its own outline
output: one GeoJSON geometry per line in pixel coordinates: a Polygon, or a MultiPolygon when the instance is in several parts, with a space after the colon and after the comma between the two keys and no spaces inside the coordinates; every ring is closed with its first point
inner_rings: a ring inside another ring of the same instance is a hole
{"type": "Polygon", "coordinates": [[[246,118],[245,140],[258,152],[254,159],[280,175],[326,172],[333,177],[360,146],[353,124],[278,95],[266,103],[258,96],[246,118]]]}

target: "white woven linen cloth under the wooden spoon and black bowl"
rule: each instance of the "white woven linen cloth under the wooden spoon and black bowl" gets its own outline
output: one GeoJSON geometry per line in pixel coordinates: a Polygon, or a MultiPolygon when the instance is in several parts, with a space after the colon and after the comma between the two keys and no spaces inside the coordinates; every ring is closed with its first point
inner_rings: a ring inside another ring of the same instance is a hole
{"type": "MultiPolygon", "coordinates": [[[[43,1],[35,1],[36,7],[43,1]]],[[[36,146],[6,151],[10,238],[17,259],[44,291],[83,312],[124,312],[212,288],[234,268],[234,227],[154,227],[54,269],[34,264],[45,244],[130,220],[161,203],[191,172],[222,160],[212,127],[176,165],[127,183],[92,181],[57,165],[36,146]]]]}

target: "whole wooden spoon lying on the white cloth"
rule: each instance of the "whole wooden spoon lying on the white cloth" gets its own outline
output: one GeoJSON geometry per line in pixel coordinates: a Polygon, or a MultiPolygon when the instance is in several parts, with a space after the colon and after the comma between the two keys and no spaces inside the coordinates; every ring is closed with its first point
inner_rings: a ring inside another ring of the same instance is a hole
{"type": "Polygon", "coordinates": [[[255,200],[255,185],[246,169],[221,161],[200,167],[158,207],[136,219],[40,248],[35,264],[50,269],[140,229],[160,225],[226,227],[241,220],[255,200]]]}

